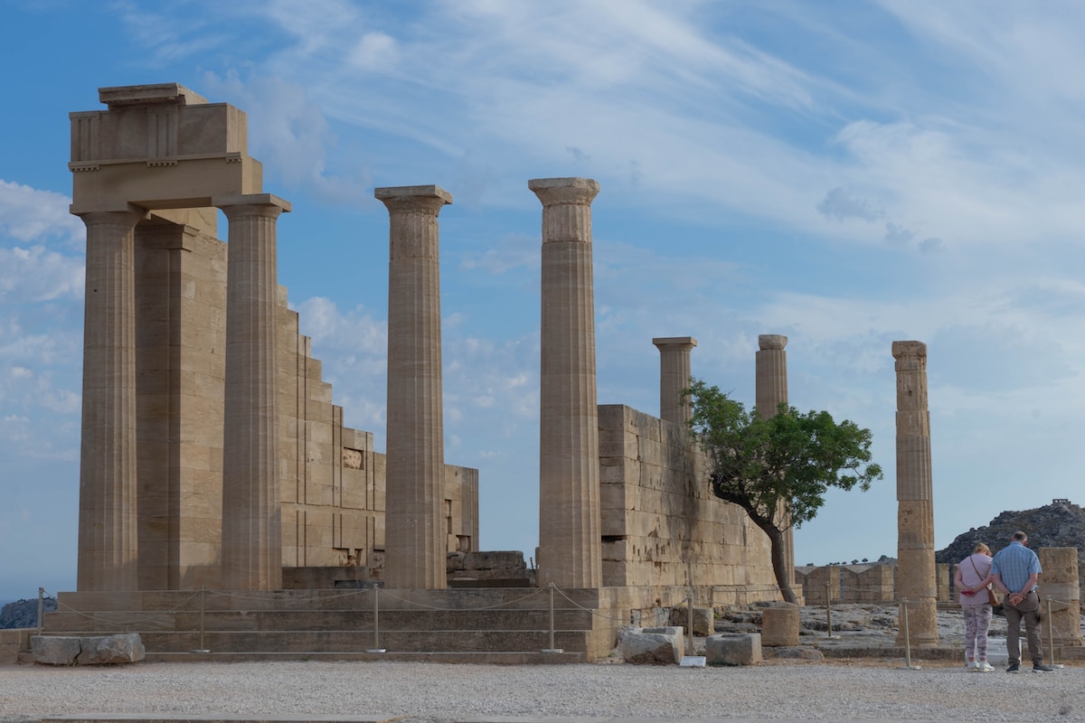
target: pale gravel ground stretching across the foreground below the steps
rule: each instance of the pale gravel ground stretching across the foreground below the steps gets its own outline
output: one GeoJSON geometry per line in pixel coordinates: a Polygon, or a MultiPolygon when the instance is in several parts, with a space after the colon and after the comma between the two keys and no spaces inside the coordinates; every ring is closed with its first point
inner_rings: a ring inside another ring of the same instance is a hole
{"type": "Polygon", "coordinates": [[[408,662],[0,669],[0,721],[88,713],[352,714],[400,721],[617,718],[1083,721],[1085,668],[1017,675],[898,662],[750,668],[408,662]]]}

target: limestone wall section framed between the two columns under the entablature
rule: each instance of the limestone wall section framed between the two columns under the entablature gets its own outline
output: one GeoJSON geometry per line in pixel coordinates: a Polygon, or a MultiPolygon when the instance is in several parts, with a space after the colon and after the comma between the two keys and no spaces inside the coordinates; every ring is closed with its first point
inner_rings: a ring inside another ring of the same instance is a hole
{"type": "Polygon", "coordinates": [[[219,582],[226,244],[161,217],[136,231],[139,590],[219,582]]]}

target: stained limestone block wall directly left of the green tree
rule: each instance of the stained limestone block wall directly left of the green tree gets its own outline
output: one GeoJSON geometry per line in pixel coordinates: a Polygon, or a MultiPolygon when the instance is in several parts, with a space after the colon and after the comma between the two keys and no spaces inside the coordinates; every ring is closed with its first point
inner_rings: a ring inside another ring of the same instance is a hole
{"type": "Polygon", "coordinates": [[[705,460],[681,426],[600,404],[599,461],[604,586],[692,584],[713,605],[779,598],[768,537],[697,481],[705,460]]]}

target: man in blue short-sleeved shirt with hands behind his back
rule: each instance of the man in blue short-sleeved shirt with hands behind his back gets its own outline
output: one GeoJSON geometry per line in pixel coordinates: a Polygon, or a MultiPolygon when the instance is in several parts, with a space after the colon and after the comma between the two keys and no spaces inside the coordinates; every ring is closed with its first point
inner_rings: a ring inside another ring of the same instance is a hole
{"type": "Polygon", "coordinates": [[[1050,673],[1055,669],[1044,664],[1044,647],[1039,637],[1039,595],[1036,580],[1043,571],[1039,557],[1025,547],[1029,535],[1020,530],[1010,535],[1010,543],[998,551],[991,564],[995,588],[1006,594],[1006,653],[1010,667],[1007,673],[1021,670],[1021,621],[1024,620],[1032,672],[1050,673]]]}

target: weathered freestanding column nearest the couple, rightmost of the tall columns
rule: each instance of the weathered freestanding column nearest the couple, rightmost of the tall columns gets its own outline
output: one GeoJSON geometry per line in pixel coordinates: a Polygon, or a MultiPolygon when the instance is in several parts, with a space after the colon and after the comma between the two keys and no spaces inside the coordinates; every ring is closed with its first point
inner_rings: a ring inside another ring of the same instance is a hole
{"type": "MultiPolygon", "coordinates": [[[[927,345],[894,341],[893,358],[896,360],[896,594],[908,601],[911,645],[933,646],[939,644],[939,620],[927,345]]],[[[901,625],[897,644],[904,643],[904,625],[901,625]]]]}

